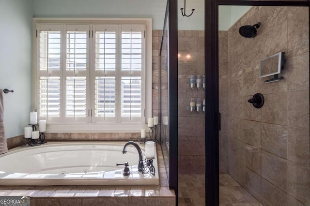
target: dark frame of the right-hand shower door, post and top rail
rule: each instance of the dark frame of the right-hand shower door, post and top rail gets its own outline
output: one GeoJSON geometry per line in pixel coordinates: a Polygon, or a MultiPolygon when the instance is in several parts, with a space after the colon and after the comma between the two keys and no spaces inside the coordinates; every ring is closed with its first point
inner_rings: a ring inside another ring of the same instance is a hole
{"type": "MultiPolygon", "coordinates": [[[[174,0],[173,0],[174,1],[174,0]]],[[[307,6],[310,1],[205,0],[205,198],[219,205],[218,6],[307,6]]],[[[177,47],[176,47],[177,48],[177,47]]],[[[171,49],[174,50],[173,47],[171,49]]]]}

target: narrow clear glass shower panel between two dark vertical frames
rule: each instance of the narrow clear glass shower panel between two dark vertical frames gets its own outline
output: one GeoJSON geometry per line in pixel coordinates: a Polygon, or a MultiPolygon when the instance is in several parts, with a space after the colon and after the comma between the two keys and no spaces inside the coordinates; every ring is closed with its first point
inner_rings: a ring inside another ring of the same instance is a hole
{"type": "Polygon", "coordinates": [[[178,8],[179,204],[204,205],[204,1],[179,1],[178,8]],[[183,16],[180,8],[195,10],[183,16]]]}

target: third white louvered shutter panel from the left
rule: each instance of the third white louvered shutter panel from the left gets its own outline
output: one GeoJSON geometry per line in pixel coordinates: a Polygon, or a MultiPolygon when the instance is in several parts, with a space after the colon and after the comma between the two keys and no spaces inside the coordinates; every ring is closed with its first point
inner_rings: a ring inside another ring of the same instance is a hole
{"type": "Polygon", "coordinates": [[[93,122],[117,122],[117,25],[93,25],[93,122]]]}

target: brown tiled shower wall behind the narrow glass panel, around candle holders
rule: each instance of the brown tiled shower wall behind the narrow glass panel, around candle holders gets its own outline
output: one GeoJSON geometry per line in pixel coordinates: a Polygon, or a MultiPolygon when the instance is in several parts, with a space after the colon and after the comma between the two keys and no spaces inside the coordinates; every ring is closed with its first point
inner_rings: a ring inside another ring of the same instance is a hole
{"type": "Polygon", "coordinates": [[[187,109],[191,97],[204,98],[202,88],[189,88],[191,74],[204,74],[204,31],[179,30],[178,52],[179,174],[204,174],[204,114],[187,109]]]}

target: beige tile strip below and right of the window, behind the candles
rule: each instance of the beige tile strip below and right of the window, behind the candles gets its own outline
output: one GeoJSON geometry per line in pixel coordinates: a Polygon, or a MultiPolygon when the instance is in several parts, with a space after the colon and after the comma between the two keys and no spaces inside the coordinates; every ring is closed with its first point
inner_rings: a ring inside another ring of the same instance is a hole
{"type": "MultiPolygon", "coordinates": [[[[159,48],[162,31],[153,30],[152,38],[152,115],[158,116],[159,96],[159,48]]],[[[146,68],[151,69],[151,68],[146,68]]],[[[137,132],[114,132],[114,133],[47,133],[47,141],[137,141],[140,133],[137,132]]],[[[23,135],[7,139],[8,147],[18,147],[23,135]]]]}

